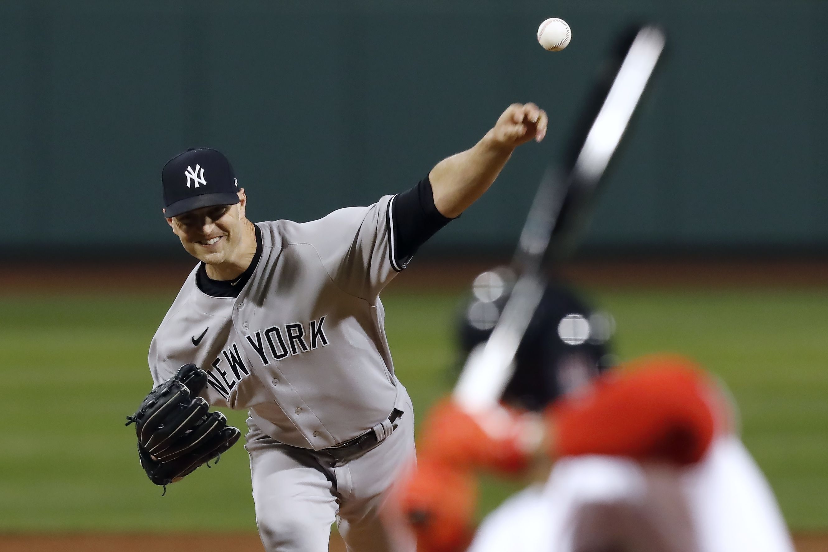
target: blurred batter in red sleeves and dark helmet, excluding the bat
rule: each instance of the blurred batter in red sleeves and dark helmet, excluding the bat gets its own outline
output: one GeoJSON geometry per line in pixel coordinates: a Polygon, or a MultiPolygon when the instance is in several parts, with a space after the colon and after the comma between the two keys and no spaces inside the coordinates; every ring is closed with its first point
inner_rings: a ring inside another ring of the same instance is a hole
{"type": "MultiPolygon", "coordinates": [[[[461,335],[470,354],[493,326],[479,303],[461,335]]],[[[450,400],[432,409],[390,508],[419,552],[792,552],[716,382],[680,356],[604,371],[608,334],[587,338],[599,321],[547,287],[503,407],[474,417],[450,400]],[[475,533],[479,470],[536,482],[475,533]]]]}

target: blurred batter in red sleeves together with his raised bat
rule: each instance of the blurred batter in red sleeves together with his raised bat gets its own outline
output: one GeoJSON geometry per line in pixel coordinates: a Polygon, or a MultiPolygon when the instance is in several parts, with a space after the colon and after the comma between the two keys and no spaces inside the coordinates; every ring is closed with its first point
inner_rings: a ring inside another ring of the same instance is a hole
{"type": "Polygon", "coordinates": [[[537,191],[517,278],[498,271],[475,281],[460,379],[426,419],[416,467],[388,510],[414,531],[419,552],[792,552],[710,376],[679,356],[606,370],[609,318],[544,275],[585,228],[665,45],[652,26],[621,38],[623,60],[609,88],[596,87],[575,162],[564,177],[547,172],[537,191]],[[480,470],[545,482],[475,535],[480,470]]]}

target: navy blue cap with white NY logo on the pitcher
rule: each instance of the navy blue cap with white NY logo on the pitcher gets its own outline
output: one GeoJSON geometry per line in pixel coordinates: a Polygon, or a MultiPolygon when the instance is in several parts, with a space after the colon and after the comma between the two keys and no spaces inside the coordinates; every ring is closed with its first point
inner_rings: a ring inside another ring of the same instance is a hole
{"type": "Polygon", "coordinates": [[[238,181],[233,167],[211,148],[190,148],[166,162],[161,171],[164,185],[164,216],[238,203],[238,181]]]}

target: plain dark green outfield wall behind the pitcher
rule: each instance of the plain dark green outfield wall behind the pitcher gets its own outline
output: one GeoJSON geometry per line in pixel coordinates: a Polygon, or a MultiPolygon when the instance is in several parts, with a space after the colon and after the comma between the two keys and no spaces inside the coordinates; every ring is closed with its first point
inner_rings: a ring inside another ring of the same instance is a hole
{"type": "Polygon", "coordinates": [[[651,20],[668,57],[588,244],[822,249],[821,0],[2,0],[0,245],[169,251],[160,172],[190,146],[227,153],[253,220],[310,220],[412,186],[533,100],[549,139],[435,239],[507,247],[614,34],[651,20]],[[535,41],[552,16],[560,53],[535,41]]]}

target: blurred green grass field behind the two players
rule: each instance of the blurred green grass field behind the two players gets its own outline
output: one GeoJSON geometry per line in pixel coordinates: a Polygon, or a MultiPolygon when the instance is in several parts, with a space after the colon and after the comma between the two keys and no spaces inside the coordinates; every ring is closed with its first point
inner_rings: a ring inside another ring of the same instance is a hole
{"type": "MultiPolygon", "coordinates": [[[[173,296],[0,298],[0,531],[255,530],[240,445],[161,498],[123,427],[151,386],[147,345],[173,296]]],[[[614,313],[622,359],[676,351],[720,375],[792,529],[828,529],[828,289],[592,297],[614,313]]],[[[450,387],[457,297],[392,291],[384,303],[397,372],[423,414],[450,387]]],[[[484,507],[507,488],[488,485],[484,507]]]]}

